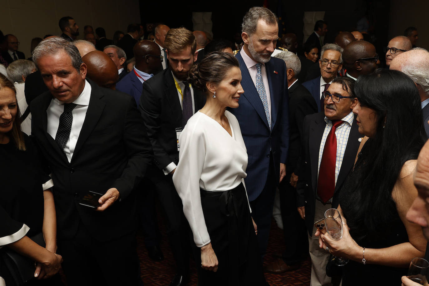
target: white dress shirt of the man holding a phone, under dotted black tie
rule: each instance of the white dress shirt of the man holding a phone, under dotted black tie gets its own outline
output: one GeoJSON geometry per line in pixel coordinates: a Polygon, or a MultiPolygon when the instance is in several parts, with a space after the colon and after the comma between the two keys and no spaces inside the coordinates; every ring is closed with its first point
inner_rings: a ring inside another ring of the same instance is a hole
{"type": "MultiPolygon", "coordinates": [[[[88,110],[89,99],[91,98],[91,85],[88,81],[85,80],[85,87],[82,90],[82,93],[79,97],[73,101],[77,104],[73,109],[73,122],[72,129],[70,131],[69,140],[64,147],[64,152],[66,152],[67,160],[72,160],[73,151],[75,151],[76,143],[79,138],[79,134],[82,129],[83,122],[85,121],[86,111],[88,110]]],[[[58,99],[51,99],[51,103],[46,110],[46,115],[48,118],[47,131],[52,138],[55,139],[57,135],[58,125],[60,124],[60,115],[64,111],[64,102],[60,102],[58,99]]]]}

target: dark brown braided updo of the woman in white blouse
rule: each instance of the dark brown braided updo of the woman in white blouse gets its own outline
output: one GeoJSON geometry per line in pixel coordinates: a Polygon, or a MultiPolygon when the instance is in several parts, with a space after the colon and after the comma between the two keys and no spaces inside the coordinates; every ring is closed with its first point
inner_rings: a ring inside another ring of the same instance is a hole
{"type": "Polygon", "coordinates": [[[203,58],[199,64],[191,67],[189,72],[190,83],[206,93],[205,84],[208,82],[218,84],[233,67],[239,68],[240,65],[232,54],[214,51],[208,57],[203,58]]]}

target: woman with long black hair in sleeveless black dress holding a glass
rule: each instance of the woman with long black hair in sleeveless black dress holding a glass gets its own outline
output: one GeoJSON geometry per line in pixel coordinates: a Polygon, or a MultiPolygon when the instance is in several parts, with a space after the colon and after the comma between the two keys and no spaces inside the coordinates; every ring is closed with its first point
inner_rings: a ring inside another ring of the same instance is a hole
{"type": "Polygon", "coordinates": [[[420,96],[407,75],[386,69],[360,76],[354,92],[353,113],[366,137],[341,190],[343,237],[316,235],[321,248],[350,260],[343,286],[399,285],[426,248],[420,226],[405,218],[417,197],[413,174],[427,139],[420,96]]]}

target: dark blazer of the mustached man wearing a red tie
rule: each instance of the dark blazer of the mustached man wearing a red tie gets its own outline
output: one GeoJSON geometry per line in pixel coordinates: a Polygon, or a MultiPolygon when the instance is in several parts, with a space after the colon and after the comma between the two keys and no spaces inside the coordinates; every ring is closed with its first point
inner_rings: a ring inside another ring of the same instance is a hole
{"type": "MultiPolygon", "coordinates": [[[[307,115],[304,119],[304,147],[302,150],[302,160],[300,169],[302,170],[296,186],[297,205],[305,206],[305,225],[308,233],[313,235],[313,224],[315,220],[321,217],[314,217],[316,206],[316,189],[317,189],[317,165],[319,163],[320,141],[322,140],[323,131],[326,122],[324,112],[307,115]]],[[[359,148],[360,137],[363,137],[356,123],[356,115],[350,129],[350,135],[347,141],[344,159],[341,164],[337,184],[335,184],[334,196],[332,198],[332,208],[338,207],[338,190],[341,190],[345,178],[351,171],[356,158],[357,149],[359,148]]]]}

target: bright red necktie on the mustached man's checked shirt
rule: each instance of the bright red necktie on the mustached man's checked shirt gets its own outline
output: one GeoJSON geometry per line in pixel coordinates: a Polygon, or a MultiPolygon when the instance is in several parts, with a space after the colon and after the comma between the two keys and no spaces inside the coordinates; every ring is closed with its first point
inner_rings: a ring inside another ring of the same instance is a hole
{"type": "Polygon", "coordinates": [[[327,202],[334,196],[335,191],[335,162],[337,159],[337,137],[335,129],[344,121],[332,121],[332,128],[326,137],[323,148],[322,160],[320,160],[319,178],[317,180],[317,195],[322,202],[327,202]]]}

